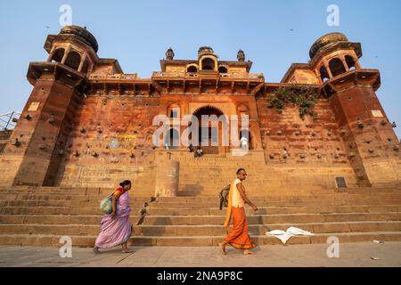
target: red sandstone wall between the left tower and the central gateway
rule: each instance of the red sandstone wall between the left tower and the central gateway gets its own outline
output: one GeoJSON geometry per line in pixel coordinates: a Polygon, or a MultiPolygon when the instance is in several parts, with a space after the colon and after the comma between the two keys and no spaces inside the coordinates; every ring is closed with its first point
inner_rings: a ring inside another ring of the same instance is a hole
{"type": "Polygon", "coordinates": [[[56,184],[114,187],[130,179],[153,193],[151,123],[159,105],[159,98],[89,95],[72,119],[56,184]]]}

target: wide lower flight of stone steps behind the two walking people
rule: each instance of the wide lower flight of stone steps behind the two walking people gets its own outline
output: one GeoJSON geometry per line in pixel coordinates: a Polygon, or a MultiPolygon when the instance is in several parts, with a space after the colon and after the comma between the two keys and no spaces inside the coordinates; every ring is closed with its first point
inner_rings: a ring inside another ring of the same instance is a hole
{"type": "MultiPolygon", "coordinates": [[[[294,195],[251,196],[258,213],[247,208],[250,235],[259,245],[281,244],[266,231],[290,226],[314,232],[291,238],[288,244],[401,240],[401,189],[347,189],[300,191],[294,195]],[[305,193],[305,194],[304,194],[305,193]]],[[[60,247],[61,236],[73,246],[92,247],[102,214],[99,201],[110,190],[60,187],[0,188],[0,245],[60,247]]],[[[131,192],[133,224],[150,197],[131,192]]],[[[134,245],[215,246],[225,236],[225,209],[213,196],[159,198],[149,215],[135,225],[134,245]]]]}

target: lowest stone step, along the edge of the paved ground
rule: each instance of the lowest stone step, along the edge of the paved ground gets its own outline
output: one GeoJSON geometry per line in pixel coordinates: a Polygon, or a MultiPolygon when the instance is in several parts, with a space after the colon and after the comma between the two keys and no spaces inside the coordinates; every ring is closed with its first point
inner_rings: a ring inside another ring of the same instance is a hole
{"type": "MultiPolygon", "coordinates": [[[[399,241],[401,232],[331,232],[317,233],[314,236],[297,236],[287,241],[291,244],[327,243],[328,238],[337,237],[340,243],[363,242],[372,240],[399,241]]],[[[70,236],[73,247],[93,247],[96,236],[70,236]]],[[[266,235],[251,235],[258,245],[282,245],[282,242],[274,237],[266,235]]],[[[0,244],[17,246],[53,246],[61,247],[63,243],[58,235],[29,235],[29,234],[0,234],[0,244]]],[[[135,246],[168,246],[168,247],[196,247],[216,246],[224,236],[180,236],[180,237],[157,237],[134,236],[129,245],[135,246]]]]}

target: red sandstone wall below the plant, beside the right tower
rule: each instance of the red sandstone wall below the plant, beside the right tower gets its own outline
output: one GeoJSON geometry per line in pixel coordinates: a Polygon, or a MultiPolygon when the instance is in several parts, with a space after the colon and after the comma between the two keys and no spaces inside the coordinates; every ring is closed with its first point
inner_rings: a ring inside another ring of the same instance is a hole
{"type": "Polygon", "coordinates": [[[349,166],[344,144],[330,104],[320,100],[315,106],[318,119],[299,118],[299,109],[286,107],[282,114],[258,99],[262,144],[267,164],[349,166]],[[288,152],[288,157],[283,158],[288,152]],[[271,157],[273,155],[273,157],[271,157]]]}

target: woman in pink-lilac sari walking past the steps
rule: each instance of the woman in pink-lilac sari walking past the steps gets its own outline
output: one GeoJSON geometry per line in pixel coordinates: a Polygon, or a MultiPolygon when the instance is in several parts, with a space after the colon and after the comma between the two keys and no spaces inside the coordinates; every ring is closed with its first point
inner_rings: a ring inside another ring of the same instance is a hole
{"type": "Polygon", "coordinates": [[[99,248],[108,249],[119,245],[122,246],[121,252],[123,253],[134,252],[133,249],[127,248],[127,242],[132,232],[132,224],[129,219],[130,198],[128,196],[131,182],[126,180],[119,185],[121,187],[113,193],[111,214],[102,217],[101,232],[94,242],[94,253],[99,253],[99,248]]]}

